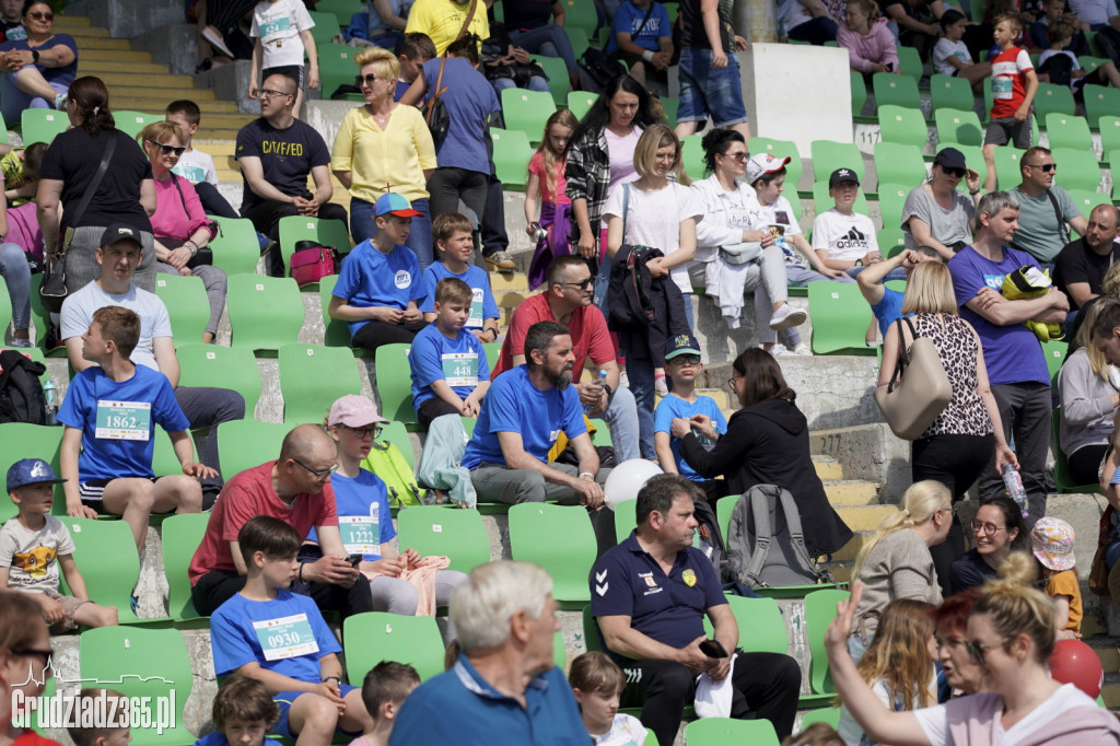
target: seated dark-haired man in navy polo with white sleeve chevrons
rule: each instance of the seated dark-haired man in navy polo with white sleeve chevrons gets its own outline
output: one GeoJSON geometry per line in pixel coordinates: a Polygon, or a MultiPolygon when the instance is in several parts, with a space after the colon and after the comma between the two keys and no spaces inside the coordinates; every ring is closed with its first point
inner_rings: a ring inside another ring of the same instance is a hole
{"type": "Polygon", "coordinates": [[[797,712],[801,669],[784,654],[736,653],[738,624],[711,561],[692,547],[693,501],[703,498],[682,476],[652,477],[637,494],[637,528],[595,563],[591,613],[626,677],[619,705],[641,707],[642,725],[659,744],[671,744],[696,698],[697,675],[731,677],[730,716],[754,712],[785,738],[797,712]]]}

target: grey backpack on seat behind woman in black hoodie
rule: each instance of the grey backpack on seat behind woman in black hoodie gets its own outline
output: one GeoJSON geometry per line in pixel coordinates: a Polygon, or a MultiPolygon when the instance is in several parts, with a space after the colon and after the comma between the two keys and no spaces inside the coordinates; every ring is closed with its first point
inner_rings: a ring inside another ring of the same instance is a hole
{"type": "Polygon", "coordinates": [[[726,574],[748,588],[832,582],[809,556],[793,495],[773,484],[755,485],[735,504],[726,574]]]}

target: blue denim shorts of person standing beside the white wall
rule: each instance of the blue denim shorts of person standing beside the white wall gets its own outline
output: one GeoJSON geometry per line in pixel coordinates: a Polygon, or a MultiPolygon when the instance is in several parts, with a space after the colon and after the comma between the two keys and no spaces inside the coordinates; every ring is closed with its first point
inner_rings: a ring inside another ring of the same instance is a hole
{"type": "Polygon", "coordinates": [[[685,47],[681,50],[681,105],[678,122],[702,122],[711,114],[716,127],[747,121],[739,83],[739,60],[727,55],[727,67],[711,68],[711,49],[685,47]]]}

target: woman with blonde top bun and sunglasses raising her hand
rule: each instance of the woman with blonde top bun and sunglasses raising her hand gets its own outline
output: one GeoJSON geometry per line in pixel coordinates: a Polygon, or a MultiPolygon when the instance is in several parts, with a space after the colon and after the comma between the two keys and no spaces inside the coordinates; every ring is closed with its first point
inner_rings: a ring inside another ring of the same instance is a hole
{"type": "Polygon", "coordinates": [[[862,586],[857,584],[851,598],[837,605],[824,637],[832,681],[868,737],[913,746],[1103,746],[1120,739],[1116,716],[1046,672],[1054,650],[1054,605],[1029,586],[1035,560],[1012,553],[1000,576],[983,586],[963,643],[987,671],[990,690],[913,712],[894,712],[879,701],[848,655],[848,630],[862,586]]]}

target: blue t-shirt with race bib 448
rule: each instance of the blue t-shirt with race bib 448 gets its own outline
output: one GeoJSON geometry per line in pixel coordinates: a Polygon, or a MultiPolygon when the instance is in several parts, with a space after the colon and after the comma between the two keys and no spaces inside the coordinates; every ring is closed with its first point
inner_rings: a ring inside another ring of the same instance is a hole
{"type": "Polygon", "coordinates": [[[489,381],[486,351],[478,337],[459,329],[455,339],[448,339],[435,321],[420,329],[409,347],[409,367],[412,375],[412,408],[436,398],[431,390],[435,381],[446,380],[459,399],[466,399],[478,388],[479,381],[489,381]]]}

